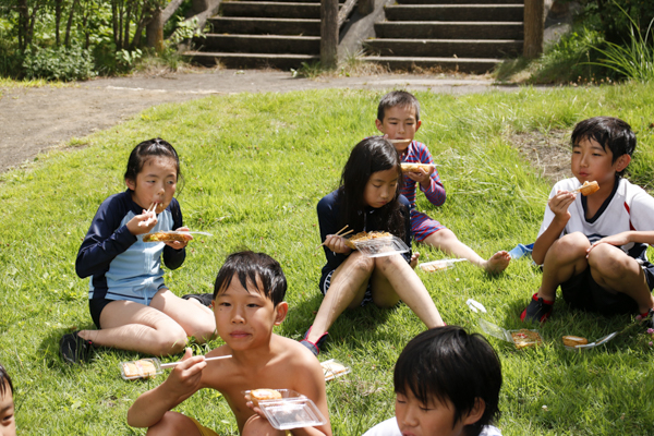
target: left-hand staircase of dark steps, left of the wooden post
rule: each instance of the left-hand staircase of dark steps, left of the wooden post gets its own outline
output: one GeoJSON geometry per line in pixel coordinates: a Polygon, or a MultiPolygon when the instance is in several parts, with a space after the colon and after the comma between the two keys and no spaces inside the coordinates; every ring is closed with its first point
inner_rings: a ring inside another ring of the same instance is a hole
{"type": "Polygon", "coordinates": [[[222,2],[193,60],[213,66],[298,69],[320,60],[319,0],[222,2]]]}

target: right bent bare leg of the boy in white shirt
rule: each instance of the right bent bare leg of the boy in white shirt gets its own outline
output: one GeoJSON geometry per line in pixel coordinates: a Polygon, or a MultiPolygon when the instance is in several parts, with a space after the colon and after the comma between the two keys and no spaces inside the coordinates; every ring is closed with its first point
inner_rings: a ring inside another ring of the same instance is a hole
{"type": "Polygon", "coordinates": [[[631,296],[638,304],[639,314],[654,307],[654,298],[640,264],[617,246],[598,244],[589,254],[589,265],[597,284],[631,296]]]}

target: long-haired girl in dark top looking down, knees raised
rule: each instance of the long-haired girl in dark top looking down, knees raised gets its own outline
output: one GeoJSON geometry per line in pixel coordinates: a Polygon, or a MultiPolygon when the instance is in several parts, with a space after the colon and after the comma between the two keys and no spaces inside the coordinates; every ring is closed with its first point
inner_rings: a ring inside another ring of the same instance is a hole
{"type": "Polygon", "coordinates": [[[400,194],[401,180],[400,157],[393,146],[382,137],[368,137],[352,149],[341,186],[318,203],[327,257],[319,284],[325,300],[301,341],[316,355],[336,318],[346,308],[371,301],[379,307],[391,307],[401,299],[428,328],[444,325],[410,266],[410,253],[370,258],[350,250],[346,239],[335,234],[348,225],[355,232],[388,231],[411,246],[409,202],[400,194]]]}

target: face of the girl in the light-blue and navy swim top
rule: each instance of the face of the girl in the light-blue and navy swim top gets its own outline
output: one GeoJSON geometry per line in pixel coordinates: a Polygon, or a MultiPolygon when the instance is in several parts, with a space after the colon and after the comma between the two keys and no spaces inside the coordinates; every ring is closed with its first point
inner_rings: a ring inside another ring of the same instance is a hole
{"type": "Polygon", "coordinates": [[[177,165],[170,157],[154,156],[146,160],[136,180],[125,179],[133,191],[132,199],[138,206],[147,209],[150,204],[157,204],[157,213],[162,211],[177,190],[177,165]]]}

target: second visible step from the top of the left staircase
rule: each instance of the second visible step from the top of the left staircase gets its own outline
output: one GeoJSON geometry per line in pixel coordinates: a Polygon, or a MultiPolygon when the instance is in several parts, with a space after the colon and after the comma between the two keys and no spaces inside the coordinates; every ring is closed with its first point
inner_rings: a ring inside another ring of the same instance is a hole
{"type": "Polygon", "coordinates": [[[213,33],[234,35],[304,35],[319,36],[320,20],[255,19],[215,16],[209,19],[213,33]]]}

